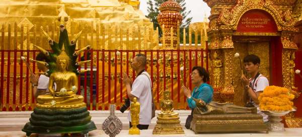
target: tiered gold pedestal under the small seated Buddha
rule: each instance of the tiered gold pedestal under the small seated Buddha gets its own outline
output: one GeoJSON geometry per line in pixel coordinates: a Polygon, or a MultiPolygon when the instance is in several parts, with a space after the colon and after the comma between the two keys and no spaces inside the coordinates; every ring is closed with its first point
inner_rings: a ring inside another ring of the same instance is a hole
{"type": "Polygon", "coordinates": [[[180,124],[178,114],[176,117],[157,117],[157,124],[153,129],[153,134],[184,134],[180,124]]]}

